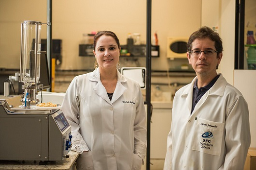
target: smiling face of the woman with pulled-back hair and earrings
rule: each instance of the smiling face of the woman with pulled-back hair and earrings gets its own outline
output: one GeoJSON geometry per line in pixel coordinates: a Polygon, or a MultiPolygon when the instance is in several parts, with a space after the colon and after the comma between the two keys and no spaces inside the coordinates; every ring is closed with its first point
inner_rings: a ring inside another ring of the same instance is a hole
{"type": "Polygon", "coordinates": [[[120,48],[112,36],[102,35],[96,41],[94,55],[100,69],[115,68],[119,61],[120,48]]]}

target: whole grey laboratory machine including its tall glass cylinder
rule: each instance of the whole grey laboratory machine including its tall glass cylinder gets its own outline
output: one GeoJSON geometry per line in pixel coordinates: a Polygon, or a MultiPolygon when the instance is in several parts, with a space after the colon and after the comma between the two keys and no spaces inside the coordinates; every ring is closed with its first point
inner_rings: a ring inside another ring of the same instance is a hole
{"type": "Polygon", "coordinates": [[[39,81],[40,74],[49,74],[40,73],[40,66],[48,70],[46,52],[40,48],[41,24],[21,23],[21,64],[15,78],[24,83],[24,98],[0,96],[0,160],[59,161],[71,149],[71,126],[61,106],[37,105],[37,91],[50,87],[48,76],[46,85],[39,81]]]}

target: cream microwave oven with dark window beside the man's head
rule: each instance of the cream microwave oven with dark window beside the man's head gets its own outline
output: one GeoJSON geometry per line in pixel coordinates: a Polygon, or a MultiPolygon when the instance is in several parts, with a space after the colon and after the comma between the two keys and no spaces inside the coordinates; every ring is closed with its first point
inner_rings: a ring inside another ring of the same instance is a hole
{"type": "Polygon", "coordinates": [[[167,37],[167,57],[187,58],[189,37],[167,37]]]}

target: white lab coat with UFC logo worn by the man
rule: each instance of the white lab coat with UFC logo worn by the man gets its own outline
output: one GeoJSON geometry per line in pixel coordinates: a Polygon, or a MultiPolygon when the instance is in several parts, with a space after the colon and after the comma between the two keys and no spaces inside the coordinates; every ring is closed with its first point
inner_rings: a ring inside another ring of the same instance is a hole
{"type": "Polygon", "coordinates": [[[191,114],[195,79],[175,94],[164,170],[243,170],[251,140],[244,97],[221,75],[191,114]]]}

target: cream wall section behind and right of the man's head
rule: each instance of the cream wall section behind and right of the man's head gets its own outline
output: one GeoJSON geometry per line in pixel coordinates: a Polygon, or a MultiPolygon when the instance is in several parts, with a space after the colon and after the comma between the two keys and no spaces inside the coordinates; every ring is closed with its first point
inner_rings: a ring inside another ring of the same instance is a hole
{"type": "Polygon", "coordinates": [[[235,51],[235,0],[202,0],[202,26],[218,27],[223,40],[223,57],[218,72],[233,84],[235,51]]]}

